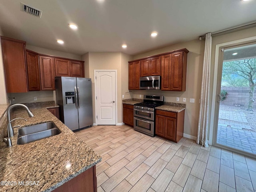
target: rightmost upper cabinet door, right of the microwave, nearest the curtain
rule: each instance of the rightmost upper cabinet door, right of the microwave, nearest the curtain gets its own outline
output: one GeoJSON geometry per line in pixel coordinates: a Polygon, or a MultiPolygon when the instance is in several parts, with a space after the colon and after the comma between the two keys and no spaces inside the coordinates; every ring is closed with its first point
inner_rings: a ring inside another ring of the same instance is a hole
{"type": "Polygon", "coordinates": [[[182,90],[182,60],[183,52],[172,54],[171,89],[172,91],[182,90]]]}

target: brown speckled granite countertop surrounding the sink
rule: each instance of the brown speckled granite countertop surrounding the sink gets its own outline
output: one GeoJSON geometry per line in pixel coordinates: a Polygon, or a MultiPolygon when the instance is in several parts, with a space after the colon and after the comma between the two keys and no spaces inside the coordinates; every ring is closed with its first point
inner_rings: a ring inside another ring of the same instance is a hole
{"type": "Polygon", "coordinates": [[[49,192],[101,161],[100,155],[78,138],[46,107],[44,105],[40,108],[29,107],[34,114],[32,118],[28,117],[26,110],[18,109],[12,112],[12,119],[22,117],[28,120],[27,122],[13,121],[13,126],[21,124],[23,127],[41,122],[54,122],[61,133],[50,138],[17,145],[18,128],[14,128],[13,146],[0,149],[0,175],[1,181],[13,181],[17,182],[17,185],[0,186],[1,191],[49,192]],[[19,181],[36,181],[39,185],[19,186],[19,181]]]}

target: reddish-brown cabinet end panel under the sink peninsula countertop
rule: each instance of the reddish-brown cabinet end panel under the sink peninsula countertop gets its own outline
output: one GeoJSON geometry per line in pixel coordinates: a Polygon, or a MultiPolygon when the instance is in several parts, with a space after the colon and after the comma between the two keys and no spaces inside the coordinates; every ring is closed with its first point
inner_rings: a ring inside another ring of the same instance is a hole
{"type": "Polygon", "coordinates": [[[97,192],[96,166],[82,172],[53,192],[97,192]]]}

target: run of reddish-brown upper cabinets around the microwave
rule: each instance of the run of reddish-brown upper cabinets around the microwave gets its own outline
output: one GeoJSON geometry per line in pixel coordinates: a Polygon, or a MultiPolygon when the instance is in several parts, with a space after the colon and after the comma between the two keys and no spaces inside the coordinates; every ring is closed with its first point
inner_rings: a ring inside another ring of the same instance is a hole
{"type": "MultiPolygon", "coordinates": [[[[186,69],[187,54],[186,48],[175,50],[147,58],[129,61],[129,89],[135,89],[136,81],[130,79],[135,70],[132,66],[135,62],[140,62],[140,76],[161,76],[161,90],[166,91],[186,91],[186,69]]],[[[139,81],[138,81],[139,82],[139,81]]]]}

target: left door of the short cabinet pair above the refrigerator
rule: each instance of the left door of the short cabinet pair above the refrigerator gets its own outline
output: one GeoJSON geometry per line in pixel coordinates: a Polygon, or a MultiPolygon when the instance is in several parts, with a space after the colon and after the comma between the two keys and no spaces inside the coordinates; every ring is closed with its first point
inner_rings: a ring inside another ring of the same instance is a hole
{"type": "Polygon", "coordinates": [[[70,60],[55,58],[55,75],[70,76],[70,60]]]}

